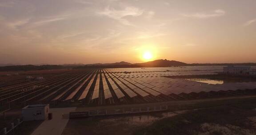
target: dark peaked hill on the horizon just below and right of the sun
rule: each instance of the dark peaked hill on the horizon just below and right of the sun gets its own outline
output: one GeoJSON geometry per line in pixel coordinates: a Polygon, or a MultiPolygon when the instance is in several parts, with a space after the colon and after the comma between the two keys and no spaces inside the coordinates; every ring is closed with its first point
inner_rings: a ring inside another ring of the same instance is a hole
{"type": "Polygon", "coordinates": [[[170,66],[188,66],[188,64],[175,60],[154,60],[145,63],[134,64],[138,67],[170,67],[170,66]]]}

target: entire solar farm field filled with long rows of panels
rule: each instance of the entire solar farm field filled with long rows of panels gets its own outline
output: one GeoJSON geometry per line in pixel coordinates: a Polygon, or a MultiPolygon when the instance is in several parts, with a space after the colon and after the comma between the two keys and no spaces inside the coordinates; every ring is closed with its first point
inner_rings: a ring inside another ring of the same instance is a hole
{"type": "Polygon", "coordinates": [[[0,110],[36,103],[80,107],[256,94],[253,81],[209,84],[208,79],[182,79],[188,75],[216,75],[221,69],[195,66],[3,72],[0,110]]]}

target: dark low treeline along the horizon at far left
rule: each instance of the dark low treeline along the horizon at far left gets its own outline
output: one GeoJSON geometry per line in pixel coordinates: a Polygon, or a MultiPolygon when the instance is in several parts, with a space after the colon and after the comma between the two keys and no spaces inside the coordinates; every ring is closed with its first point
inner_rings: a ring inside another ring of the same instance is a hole
{"type": "Polygon", "coordinates": [[[63,69],[66,68],[60,65],[16,65],[0,67],[0,71],[31,71],[31,70],[50,70],[50,69],[63,69]]]}

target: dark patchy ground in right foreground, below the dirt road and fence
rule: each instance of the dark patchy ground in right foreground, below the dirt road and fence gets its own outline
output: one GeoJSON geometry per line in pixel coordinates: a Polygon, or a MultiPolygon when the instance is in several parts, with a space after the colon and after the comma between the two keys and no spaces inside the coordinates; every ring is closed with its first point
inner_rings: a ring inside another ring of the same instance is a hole
{"type": "Polygon", "coordinates": [[[255,96],[170,101],[166,112],[70,119],[62,135],[255,135],[255,103],[255,96]]]}

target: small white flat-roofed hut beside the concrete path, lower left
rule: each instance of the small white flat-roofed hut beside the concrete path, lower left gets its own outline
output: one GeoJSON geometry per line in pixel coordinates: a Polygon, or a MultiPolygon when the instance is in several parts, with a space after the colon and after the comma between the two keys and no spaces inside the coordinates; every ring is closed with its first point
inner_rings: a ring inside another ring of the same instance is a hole
{"type": "Polygon", "coordinates": [[[28,105],[22,108],[22,116],[24,121],[45,120],[48,119],[50,111],[49,104],[28,105]]]}

